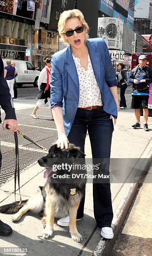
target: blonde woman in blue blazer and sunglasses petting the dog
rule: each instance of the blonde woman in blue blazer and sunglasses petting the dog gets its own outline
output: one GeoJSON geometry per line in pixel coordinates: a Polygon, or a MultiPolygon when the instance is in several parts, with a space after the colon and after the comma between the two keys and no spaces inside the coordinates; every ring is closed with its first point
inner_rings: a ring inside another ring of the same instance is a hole
{"type": "MultiPolygon", "coordinates": [[[[119,102],[107,45],[102,38],[88,39],[89,27],[77,9],[60,15],[58,31],[67,48],[55,53],[51,60],[50,102],[58,131],[57,146],[67,149],[70,142],[84,152],[88,131],[93,159],[110,159],[112,116],[116,123],[119,102]]],[[[107,169],[109,173],[109,166],[107,169]]],[[[93,199],[102,236],[113,238],[109,180],[106,184],[93,182],[93,199]]],[[[83,218],[84,203],[85,197],[80,202],[77,220],[83,218]]],[[[57,224],[68,226],[69,216],[57,224]]]]}

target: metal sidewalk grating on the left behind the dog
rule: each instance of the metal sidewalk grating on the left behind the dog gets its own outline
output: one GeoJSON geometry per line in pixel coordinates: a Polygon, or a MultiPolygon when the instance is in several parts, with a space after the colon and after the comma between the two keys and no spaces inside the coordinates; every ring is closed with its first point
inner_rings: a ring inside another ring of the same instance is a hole
{"type": "MultiPolygon", "coordinates": [[[[31,138],[33,141],[37,142],[40,146],[49,149],[57,138],[56,126],[55,122],[51,120],[50,109],[45,107],[40,108],[37,112],[40,119],[33,119],[30,116],[32,111],[33,108],[26,108],[15,111],[17,121],[20,124],[18,130],[24,133],[27,137],[31,138]]],[[[2,113],[1,117],[3,120],[5,118],[5,113],[2,113]]],[[[9,131],[3,131],[2,127],[0,127],[0,130],[0,140],[2,142],[2,167],[0,171],[0,185],[2,185],[14,177],[15,139],[13,133],[10,133],[9,131]]],[[[38,159],[46,155],[46,153],[43,151],[35,151],[35,149],[40,150],[40,148],[32,144],[30,141],[27,141],[20,135],[18,135],[18,143],[20,172],[29,168],[35,164],[38,159]],[[22,147],[26,147],[27,149],[22,147]]]]}

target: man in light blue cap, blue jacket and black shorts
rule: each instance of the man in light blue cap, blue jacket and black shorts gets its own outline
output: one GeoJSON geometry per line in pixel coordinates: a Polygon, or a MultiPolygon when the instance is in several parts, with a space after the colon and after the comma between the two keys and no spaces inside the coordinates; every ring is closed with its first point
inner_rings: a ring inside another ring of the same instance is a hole
{"type": "Polygon", "coordinates": [[[146,66],[146,55],[139,56],[139,65],[132,69],[128,82],[133,84],[131,108],[135,109],[136,123],[134,129],[140,128],[140,105],[143,108],[144,130],[149,131],[148,121],[148,99],[149,84],[152,83],[152,69],[146,66]]]}

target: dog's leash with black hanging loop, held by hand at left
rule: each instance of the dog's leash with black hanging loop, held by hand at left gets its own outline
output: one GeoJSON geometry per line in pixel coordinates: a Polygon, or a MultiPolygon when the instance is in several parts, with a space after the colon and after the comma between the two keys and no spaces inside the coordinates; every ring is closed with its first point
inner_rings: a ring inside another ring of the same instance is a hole
{"type": "MultiPolygon", "coordinates": [[[[6,125],[6,129],[9,130],[8,125],[6,125]]],[[[24,133],[21,133],[20,131],[17,130],[17,132],[14,132],[14,138],[15,138],[15,157],[16,157],[16,163],[15,163],[15,174],[14,174],[14,182],[15,182],[15,188],[14,188],[14,192],[15,192],[15,201],[16,201],[16,177],[17,177],[17,181],[18,181],[18,189],[20,192],[20,166],[19,166],[19,150],[18,150],[18,137],[17,134],[19,134],[20,136],[23,136],[27,141],[32,142],[33,144],[35,144],[36,146],[38,146],[39,148],[41,148],[42,150],[48,152],[47,148],[43,148],[42,146],[40,146],[39,144],[37,144],[35,141],[32,141],[30,138],[28,138],[27,136],[24,135],[24,133]]],[[[16,201],[17,202],[17,201],[16,201]]],[[[22,202],[22,198],[20,195],[20,202],[17,203],[18,205],[20,205],[22,202]]]]}

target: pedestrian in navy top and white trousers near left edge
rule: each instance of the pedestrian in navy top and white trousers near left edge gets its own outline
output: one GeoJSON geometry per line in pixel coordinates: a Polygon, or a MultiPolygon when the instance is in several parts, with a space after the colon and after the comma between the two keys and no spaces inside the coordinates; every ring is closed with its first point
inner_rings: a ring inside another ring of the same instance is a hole
{"type": "Polygon", "coordinates": [[[4,68],[4,78],[7,81],[8,87],[10,88],[10,94],[12,96],[12,99],[14,98],[14,82],[15,82],[15,67],[11,66],[11,61],[10,59],[7,59],[6,61],[7,66],[4,68]]]}

